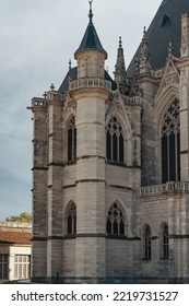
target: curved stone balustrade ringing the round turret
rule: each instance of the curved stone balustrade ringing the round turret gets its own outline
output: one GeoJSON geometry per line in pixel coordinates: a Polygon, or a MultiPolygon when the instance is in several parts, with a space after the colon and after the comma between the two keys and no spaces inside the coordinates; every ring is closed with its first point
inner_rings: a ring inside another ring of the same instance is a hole
{"type": "Polygon", "coordinates": [[[70,91],[78,90],[78,89],[95,89],[95,87],[106,89],[110,91],[111,82],[99,78],[82,78],[82,79],[71,81],[69,83],[70,91]]]}

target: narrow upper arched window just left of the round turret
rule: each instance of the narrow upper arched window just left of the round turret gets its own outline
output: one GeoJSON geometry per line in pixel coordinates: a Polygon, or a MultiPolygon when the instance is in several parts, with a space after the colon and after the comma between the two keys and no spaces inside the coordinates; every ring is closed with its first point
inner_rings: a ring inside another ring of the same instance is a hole
{"type": "Polygon", "coordinates": [[[68,161],[74,161],[76,158],[76,128],[75,117],[69,121],[68,126],[68,161]]]}

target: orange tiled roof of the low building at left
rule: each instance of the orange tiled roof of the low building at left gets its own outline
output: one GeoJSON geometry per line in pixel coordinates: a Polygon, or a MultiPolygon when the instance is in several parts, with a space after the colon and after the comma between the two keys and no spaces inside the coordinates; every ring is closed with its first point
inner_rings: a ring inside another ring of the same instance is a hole
{"type": "Polygon", "coordinates": [[[25,232],[0,232],[0,243],[31,244],[31,233],[25,232]]]}

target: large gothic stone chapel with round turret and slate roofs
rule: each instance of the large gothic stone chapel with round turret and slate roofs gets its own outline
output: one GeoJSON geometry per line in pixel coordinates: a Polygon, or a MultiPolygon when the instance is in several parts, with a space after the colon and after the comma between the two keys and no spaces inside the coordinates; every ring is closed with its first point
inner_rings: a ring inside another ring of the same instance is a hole
{"type": "Polygon", "coordinates": [[[91,3],[78,66],[32,99],[34,281],[189,282],[187,12],[164,0],[127,70],[120,38],[113,80],[91,3]]]}

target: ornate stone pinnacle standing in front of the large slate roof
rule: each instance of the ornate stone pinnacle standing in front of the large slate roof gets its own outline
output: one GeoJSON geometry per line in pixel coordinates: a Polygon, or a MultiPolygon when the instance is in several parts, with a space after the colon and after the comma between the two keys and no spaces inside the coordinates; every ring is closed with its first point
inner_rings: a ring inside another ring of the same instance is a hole
{"type": "Polygon", "coordinates": [[[141,50],[140,50],[140,73],[150,72],[151,63],[150,63],[150,51],[149,51],[149,39],[147,33],[144,26],[143,38],[141,42],[141,50]]]}

